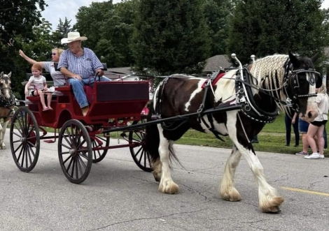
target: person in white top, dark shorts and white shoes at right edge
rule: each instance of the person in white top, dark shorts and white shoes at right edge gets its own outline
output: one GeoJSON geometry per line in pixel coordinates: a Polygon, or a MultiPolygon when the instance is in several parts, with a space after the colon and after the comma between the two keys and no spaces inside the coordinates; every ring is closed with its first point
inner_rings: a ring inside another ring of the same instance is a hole
{"type": "Polygon", "coordinates": [[[309,146],[312,149],[312,154],[309,156],[304,156],[307,159],[323,159],[323,148],[324,148],[324,140],[323,140],[323,130],[325,124],[328,121],[328,110],[329,110],[329,98],[327,95],[327,89],[325,84],[319,89],[316,89],[316,104],[318,105],[318,117],[314,119],[311,124],[309,124],[309,129],[307,131],[307,141],[309,142],[309,146]],[[316,149],[316,142],[314,140],[314,135],[317,137],[318,142],[318,151],[316,149]]]}

